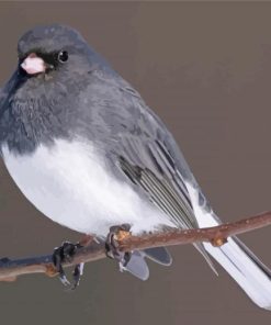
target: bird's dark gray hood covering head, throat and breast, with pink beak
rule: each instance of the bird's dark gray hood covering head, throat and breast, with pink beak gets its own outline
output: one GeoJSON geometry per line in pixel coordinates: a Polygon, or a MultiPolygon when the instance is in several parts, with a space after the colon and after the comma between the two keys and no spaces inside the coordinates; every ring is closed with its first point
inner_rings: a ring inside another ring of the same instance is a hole
{"type": "Polygon", "coordinates": [[[18,43],[18,69],[0,102],[0,142],[33,150],[53,136],[68,136],[72,101],[93,70],[109,67],[74,29],[52,24],[26,32],[18,43]]]}

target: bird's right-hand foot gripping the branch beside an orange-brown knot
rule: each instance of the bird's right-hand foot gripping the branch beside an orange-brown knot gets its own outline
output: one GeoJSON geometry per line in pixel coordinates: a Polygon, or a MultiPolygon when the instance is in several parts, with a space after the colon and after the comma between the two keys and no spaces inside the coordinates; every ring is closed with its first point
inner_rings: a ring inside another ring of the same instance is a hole
{"type": "Polygon", "coordinates": [[[131,225],[122,224],[120,226],[110,227],[109,235],[105,240],[105,253],[109,258],[115,259],[120,262],[121,271],[125,269],[129,259],[129,251],[120,251],[118,242],[131,236],[131,225]]]}

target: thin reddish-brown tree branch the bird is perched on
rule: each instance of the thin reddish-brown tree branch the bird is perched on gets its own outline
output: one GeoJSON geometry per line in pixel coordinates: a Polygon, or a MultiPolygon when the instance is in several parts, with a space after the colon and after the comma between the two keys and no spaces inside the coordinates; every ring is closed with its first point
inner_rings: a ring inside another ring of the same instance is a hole
{"type": "MultiPolygon", "coordinates": [[[[208,228],[172,229],[163,233],[144,234],[142,236],[131,235],[120,239],[118,245],[121,251],[197,242],[208,242],[214,246],[222,246],[233,235],[247,233],[268,225],[271,225],[271,212],[264,212],[256,216],[208,228]]],[[[78,249],[72,261],[65,264],[64,267],[94,261],[104,257],[104,243],[92,242],[89,246],[78,249]]],[[[31,273],[57,274],[52,261],[52,255],[14,260],[9,258],[0,259],[0,281],[14,281],[19,276],[31,273]]]]}

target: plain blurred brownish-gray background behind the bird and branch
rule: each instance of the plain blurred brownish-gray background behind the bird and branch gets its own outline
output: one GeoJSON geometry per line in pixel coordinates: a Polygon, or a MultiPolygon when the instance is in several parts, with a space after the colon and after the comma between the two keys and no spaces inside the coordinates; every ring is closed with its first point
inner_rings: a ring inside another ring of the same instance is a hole
{"type": "MultiPolygon", "coordinates": [[[[0,3],[0,85],[19,36],[61,22],[80,30],[163,119],[225,221],[271,209],[271,3],[0,3]]],[[[0,166],[0,256],[52,251],[80,235],[43,217],[0,166]]],[[[270,228],[241,236],[271,266],[270,228]]],[[[191,246],[140,282],[114,262],[87,266],[81,285],[27,276],[0,283],[3,324],[269,324],[218,267],[191,246]]]]}

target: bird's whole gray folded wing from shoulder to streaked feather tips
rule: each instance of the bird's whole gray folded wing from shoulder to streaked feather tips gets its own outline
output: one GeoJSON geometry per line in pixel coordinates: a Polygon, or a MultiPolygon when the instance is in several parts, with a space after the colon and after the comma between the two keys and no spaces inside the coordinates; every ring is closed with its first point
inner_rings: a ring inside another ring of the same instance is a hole
{"type": "MultiPolygon", "coordinates": [[[[116,177],[126,178],[177,227],[199,227],[185,187],[196,182],[170,132],[120,76],[106,70],[90,77],[91,110],[83,111],[90,116],[81,123],[89,122],[87,134],[110,156],[116,177]]],[[[212,266],[203,245],[195,247],[212,266]]]]}

